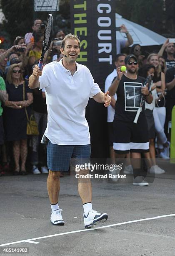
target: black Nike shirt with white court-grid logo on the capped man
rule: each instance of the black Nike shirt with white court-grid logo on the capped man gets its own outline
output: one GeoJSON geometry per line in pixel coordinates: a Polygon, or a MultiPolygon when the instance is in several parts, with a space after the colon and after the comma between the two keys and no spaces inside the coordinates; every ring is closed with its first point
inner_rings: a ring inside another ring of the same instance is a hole
{"type": "MultiPolygon", "coordinates": [[[[117,102],[115,104],[115,116],[114,120],[123,121],[134,121],[135,115],[140,107],[140,102],[142,100],[141,88],[145,82],[144,77],[139,77],[137,79],[129,79],[122,76],[117,89],[117,102]]],[[[141,116],[145,115],[145,105],[143,104],[141,116]]]]}

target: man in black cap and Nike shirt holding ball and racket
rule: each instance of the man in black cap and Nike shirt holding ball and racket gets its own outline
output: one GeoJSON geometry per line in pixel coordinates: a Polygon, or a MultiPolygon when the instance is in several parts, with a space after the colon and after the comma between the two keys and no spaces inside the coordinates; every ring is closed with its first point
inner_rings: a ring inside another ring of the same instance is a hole
{"type": "MultiPolygon", "coordinates": [[[[140,109],[143,97],[147,103],[151,103],[153,96],[144,87],[145,78],[137,75],[138,60],[134,55],[125,58],[127,72],[121,72],[117,68],[117,77],[109,87],[109,95],[117,93],[114,116],[114,141],[115,157],[125,158],[131,153],[132,159],[141,159],[142,152],[149,151],[148,125],[145,118],[144,106],[140,112],[137,123],[135,116],[140,109]]],[[[140,169],[140,160],[133,161],[134,185],[148,186],[140,169]]]]}

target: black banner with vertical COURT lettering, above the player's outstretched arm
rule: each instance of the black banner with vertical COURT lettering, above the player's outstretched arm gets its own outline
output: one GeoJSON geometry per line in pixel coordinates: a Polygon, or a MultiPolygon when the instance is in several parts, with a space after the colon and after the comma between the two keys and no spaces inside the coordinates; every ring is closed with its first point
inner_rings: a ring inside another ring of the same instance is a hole
{"type": "Polygon", "coordinates": [[[77,62],[86,65],[104,90],[116,54],[115,0],[71,0],[71,30],[80,37],[77,62]]]}

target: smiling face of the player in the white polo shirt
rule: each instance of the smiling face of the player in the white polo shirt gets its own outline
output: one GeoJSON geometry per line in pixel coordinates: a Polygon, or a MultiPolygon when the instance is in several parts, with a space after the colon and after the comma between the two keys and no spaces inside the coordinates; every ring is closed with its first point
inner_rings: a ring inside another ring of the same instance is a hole
{"type": "Polygon", "coordinates": [[[76,39],[67,38],[65,41],[65,47],[64,49],[60,49],[61,53],[63,55],[66,55],[66,61],[68,62],[75,62],[78,54],[80,54],[80,48],[78,45],[78,41],[76,39]]]}

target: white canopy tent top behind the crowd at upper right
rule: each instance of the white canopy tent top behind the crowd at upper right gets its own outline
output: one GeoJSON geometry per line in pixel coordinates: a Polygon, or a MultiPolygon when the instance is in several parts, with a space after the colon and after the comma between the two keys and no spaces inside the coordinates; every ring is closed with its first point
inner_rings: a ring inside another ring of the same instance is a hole
{"type": "MultiPolygon", "coordinates": [[[[148,28],[138,25],[130,20],[122,18],[121,15],[115,13],[115,26],[120,27],[122,24],[126,26],[130,35],[133,38],[134,44],[140,44],[141,46],[160,45],[165,42],[167,38],[160,36],[148,28]]],[[[116,31],[116,39],[126,39],[125,33],[116,31]]]]}

